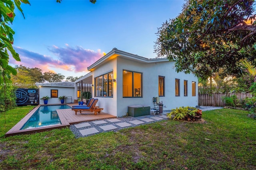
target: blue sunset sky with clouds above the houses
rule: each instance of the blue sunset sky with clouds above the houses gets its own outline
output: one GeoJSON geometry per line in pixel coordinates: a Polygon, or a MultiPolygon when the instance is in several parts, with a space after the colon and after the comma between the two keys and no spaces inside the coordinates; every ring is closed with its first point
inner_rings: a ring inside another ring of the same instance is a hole
{"type": "Polygon", "coordinates": [[[184,0],[30,0],[16,10],[12,29],[21,62],[67,76],[87,67],[114,47],[154,58],[157,28],[180,14],[184,0]]]}

